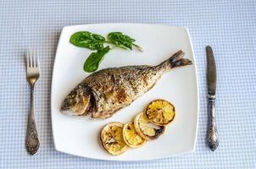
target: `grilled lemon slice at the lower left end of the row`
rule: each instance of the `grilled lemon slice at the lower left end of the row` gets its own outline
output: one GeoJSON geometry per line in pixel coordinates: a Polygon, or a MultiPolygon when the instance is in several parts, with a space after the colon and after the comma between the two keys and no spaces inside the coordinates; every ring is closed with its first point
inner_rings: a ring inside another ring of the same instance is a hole
{"type": "Polygon", "coordinates": [[[122,123],[109,123],[103,127],[100,134],[100,140],[103,144],[103,148],[111,155],[121,155],[128,146],[123,139],[123,127],[122,123]]]}

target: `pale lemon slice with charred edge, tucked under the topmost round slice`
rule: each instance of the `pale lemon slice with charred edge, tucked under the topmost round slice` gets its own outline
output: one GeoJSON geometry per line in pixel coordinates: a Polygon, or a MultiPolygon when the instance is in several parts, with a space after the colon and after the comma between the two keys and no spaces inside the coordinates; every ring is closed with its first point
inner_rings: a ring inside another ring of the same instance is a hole
{"type": "Polygon", "coordinates": [[[136,132],[143,139],[157,139],[159,135],[164,134],[165,131],[165,126],[157,126],[153,123],[150,123],[144,116],[143,112],[136,115],[133,123],[136,132]]]}

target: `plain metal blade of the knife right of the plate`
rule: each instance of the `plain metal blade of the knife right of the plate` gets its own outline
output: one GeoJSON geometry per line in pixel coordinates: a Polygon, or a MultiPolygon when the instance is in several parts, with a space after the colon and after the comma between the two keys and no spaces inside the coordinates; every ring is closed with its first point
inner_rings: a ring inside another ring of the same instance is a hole
{"type": "Polygon", "coordinates": [[[215,95],[216,92],[216,83],[217,83],[217,74],[216,74],[216,65],[214,60],[214,52],[211,46],[206,46],[207,54],[207,87],[208,94],[215,95]]]}

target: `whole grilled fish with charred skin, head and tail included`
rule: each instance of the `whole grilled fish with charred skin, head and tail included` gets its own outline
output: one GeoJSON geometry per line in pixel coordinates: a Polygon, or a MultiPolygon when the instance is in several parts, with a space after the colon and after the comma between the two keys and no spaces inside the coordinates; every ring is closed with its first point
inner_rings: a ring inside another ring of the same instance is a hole
{"type": "Polygon", "coordinates": [[[157,66],[105,68],[86,77],[64,99],[61,112],[70,115],[91,114],[92,118],[109,118],[121,108],[153,88],[171,68],[192,64],[178,51],[157,66]]]}

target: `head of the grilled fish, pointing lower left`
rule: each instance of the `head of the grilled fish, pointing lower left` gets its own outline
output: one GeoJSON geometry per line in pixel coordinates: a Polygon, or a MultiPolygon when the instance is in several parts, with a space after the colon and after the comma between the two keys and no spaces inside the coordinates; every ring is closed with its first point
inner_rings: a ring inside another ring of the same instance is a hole
{"type": "Polygon", "coordinates": [[[86,89],[77,87],[66,96],[60,110],[64,114],[81,116],[90,112],[91,106],[91,95],[86,89]]]}

